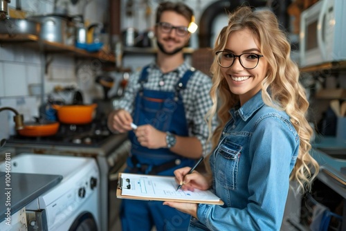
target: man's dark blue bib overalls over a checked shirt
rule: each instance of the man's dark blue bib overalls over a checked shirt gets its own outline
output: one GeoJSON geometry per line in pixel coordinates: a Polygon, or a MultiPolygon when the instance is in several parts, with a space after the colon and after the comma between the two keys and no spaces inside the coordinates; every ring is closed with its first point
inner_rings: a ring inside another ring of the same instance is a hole
{"type": "MultiPolygon", "coordinates": [[[[170,131],[178,136],[188,136],[188,122],[180,91],[185,89],[194,70],[188,70],[176,83],[176,91],[154,91],[144,89],[149,66],[140,75],[140,90],[136,95],[133,113],[134,124],[151,124],[160,131],[170,131]]],[[[195,160],[174,154],[170,149],[148,149],[137,141],[133,131],[129,132],[131,157],[127,158],[125,172],[174,176],[175,169],[192,167],[195,160]]],[[[162,205],[162,201],[122,200],[122,231],[188,230],[190,215],[162,205]]]]}

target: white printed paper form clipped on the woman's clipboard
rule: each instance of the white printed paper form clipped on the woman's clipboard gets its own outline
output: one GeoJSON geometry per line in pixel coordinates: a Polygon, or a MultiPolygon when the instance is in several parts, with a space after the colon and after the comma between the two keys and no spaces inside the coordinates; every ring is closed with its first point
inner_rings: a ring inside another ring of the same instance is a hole
{"type": "Polygon", "coordinates": [[[173,176],[150,176],[140,174],[122,174],[122,179],[129,179],[129,189],[122,188],[122,195],[143,196],[146,198],[165,198],[191,201],[219,201],[220,198],[209,190],[176,191],[178,185],[173,176]]]}

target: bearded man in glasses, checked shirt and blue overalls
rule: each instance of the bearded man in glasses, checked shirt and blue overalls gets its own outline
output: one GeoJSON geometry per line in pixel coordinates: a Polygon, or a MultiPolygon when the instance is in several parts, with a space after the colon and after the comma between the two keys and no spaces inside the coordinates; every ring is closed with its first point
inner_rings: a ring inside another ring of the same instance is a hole
{"type": "MultiPolygon", "coordinates": [[[[156,12],[155,62],[131,76],[109,127],[129,131],[131,154],[126,172],[174,176],[175,169],[194,165],[210,151],[204,116],[212,105],[210,77],[194,70],[183,57],[193,22],[185,4],[163,2],[156,12]],[[131,123],[136,124],[134,126],[131,123]]],[[[213,122],[214,129],[216,120],[213,122]]],[[[160,201],[123,200],[122,230],[187,230],[190,215],[160,201]]]]}

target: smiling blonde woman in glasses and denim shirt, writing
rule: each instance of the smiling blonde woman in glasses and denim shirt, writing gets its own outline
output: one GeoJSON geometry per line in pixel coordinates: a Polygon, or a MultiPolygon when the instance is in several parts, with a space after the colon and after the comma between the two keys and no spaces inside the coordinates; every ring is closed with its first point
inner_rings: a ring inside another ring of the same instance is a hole
{"type": "Polygon", "coordinates": [[[211,188],[224,205],[164,202],[192,215],[190,230],[280,230],[289,180],[304,192],[318,174],[309,155],[309,103],[290,44],[269,10],[238,8],[215,43],[210,95],[221,123],[210,177],[177,169],[183,190],[211,188]],[[219,100],[221,100],[219,107],[219,100]]]}

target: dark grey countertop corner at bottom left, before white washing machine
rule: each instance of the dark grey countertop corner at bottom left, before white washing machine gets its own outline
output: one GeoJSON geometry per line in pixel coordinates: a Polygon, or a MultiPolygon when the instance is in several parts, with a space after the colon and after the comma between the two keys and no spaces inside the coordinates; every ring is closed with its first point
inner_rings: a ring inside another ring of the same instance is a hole
{"type": "Polygon", "coordinates": [[[6,212],[15,214],[35,198],[50,190],[62,181],[60,175],[10,173],[0,172],[0,223],[6,219],[6,212]],[[10,183],[10,185],[7,185],[10,183]]]}

